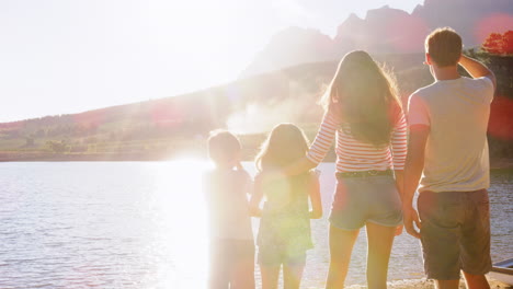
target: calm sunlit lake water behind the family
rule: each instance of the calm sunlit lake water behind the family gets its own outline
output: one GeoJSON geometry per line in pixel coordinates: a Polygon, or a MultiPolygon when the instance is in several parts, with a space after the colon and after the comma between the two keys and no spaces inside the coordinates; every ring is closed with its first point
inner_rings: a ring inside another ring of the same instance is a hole
{"type": "MultiPolygon", "coordinates": [[[[204,288],[208,240],[198,174],[205,167],[195,161],[1,163],[0,288],[204,288]]],[[[312,220],[316,247],[304,288],[320,288],[328,268],[334,167],[320,170],[326,216],[312,220]]],[[[510,192],[513,171],[493,172],[494,261],[513,256],[510,192]]],[[[365,252],[362,230],[347,285],[365,282],[365,252]]],[[[402,234],[389,279],[421,277],[419,242],[402,234]]]]}

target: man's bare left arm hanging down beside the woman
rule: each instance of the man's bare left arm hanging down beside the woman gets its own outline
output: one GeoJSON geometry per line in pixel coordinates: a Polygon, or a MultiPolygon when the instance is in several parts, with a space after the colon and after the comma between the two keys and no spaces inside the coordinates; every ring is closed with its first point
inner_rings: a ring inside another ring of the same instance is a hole
{"type": "Polygon", "coordinates": [[[410,126],[410,139],[408,143],[408,157],[404,167],[404,181],[402,192],[402,215],[404,229],[414,238],[420,238],[420,232],[413,227],[421,228],[419,213],[413,208],[413,195],[415,194],[419,181],[424,169],[424,152],[430,127],[426,125],[410,126]]]}

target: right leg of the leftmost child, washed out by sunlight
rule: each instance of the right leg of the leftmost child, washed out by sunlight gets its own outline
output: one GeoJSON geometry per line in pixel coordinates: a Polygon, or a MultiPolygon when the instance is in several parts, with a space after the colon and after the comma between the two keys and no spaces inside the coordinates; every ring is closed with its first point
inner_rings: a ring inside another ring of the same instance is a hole
{"type": "Polygon", "coordinates": [[[254,288],[254,245],[253,241],[237,241],[232,247],[237,262],[231,276],[231,289],[254,288]]]}

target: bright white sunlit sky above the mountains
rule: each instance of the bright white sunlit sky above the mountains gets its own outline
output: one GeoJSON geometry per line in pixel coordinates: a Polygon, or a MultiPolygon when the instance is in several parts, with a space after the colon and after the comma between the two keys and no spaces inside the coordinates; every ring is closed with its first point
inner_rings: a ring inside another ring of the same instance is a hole
{"type": "Polygon", "coordinates": [[[2,0],[0,123],[228,83],[276,32],[423,0],[2,0]]]}

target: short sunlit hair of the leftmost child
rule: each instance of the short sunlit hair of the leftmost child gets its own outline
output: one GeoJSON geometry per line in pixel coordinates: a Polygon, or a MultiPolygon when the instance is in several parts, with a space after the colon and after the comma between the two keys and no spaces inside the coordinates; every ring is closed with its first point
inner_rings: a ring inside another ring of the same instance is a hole
{"type": "Polygon", "coordinates": [[[241,150],[239,139],[227,130],[210,131],[207,143],[208,157],[215,162],[225,161],[241,150]]]}

